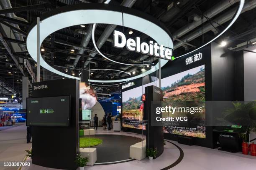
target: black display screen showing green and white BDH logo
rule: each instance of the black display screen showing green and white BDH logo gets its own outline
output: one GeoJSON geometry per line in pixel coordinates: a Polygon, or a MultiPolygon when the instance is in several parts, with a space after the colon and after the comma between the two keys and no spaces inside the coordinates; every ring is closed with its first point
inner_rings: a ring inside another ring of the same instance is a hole
{"type": "Polygon", "coordinates": [[[27,98],[27,126],[69,126],[70,96],[27,98]]]}

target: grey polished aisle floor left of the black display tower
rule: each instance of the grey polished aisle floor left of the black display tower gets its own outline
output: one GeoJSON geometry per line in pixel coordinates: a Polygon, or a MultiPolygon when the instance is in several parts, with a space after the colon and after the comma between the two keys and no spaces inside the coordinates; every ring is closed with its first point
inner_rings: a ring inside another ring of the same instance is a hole
{"type": "Polygon", "coordinates": [[[27,144],[26,135],[27,127],[25,123],[8,126],[8,128],[0,131],[0,170],[17,170],[18,167],[5,167],[5,162],[22,162],[26,156],[25,150],[31,148],[31,144],[27,144]]]}

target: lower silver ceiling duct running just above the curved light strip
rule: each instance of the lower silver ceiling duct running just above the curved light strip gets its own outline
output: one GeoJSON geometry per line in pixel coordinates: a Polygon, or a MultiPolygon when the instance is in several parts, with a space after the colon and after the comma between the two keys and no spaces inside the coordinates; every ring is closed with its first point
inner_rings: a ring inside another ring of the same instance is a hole
{"type": "MultiPolygon", "coordinates": [[[[241,11],[241,13],[244,13],[248,10],[252,10],[255,7],[256,7],[256,0],[247,0],[243,6],[243,10],[241,11]]],[[[233,18],[233,16],[236,14],[236,11],[237,11],[237,7],[233,7],[231,10],[229,10],[225,14],[220,15],[218,18],[213,20],[214,22],[204,25],[203,32],[206,33],[208,31],[212,30],[214,27],[217,28],[219,25],[222,25],[223,23],[231,20],[233,18]]],[[[201,35],[202,35],[202,28],[198,28],[191,34],[184,37],[184,39],[182,39],[182,41],[189,42],[201,35]]],[[[181,47],[182,45],[184,45],[184,42],[178,42],[178,43],[174,44],[174,49],[177,49],[177,48],[181,47]]]]}

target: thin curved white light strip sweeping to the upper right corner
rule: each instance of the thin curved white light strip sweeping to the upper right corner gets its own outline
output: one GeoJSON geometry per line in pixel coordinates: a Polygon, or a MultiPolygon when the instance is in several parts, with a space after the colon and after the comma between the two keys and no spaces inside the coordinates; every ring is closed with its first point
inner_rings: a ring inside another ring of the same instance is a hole
{"type": "MultiPolygon", "coordinates": [[[[217,35],[216,37],[214,37],[212,40],[210,40],[210,41],[207,42],[206,44],[202,45],[201,47],[198,47],[197,49],[195,49],[195,50],[193,50],[193,51],[190,51],[190,52],[188,52],[188,53],[186,53],[186,54],[180,55],[179,57],[183,57],[183,56],[188,55],[188,54],[190,54],[190,53],[192,53],[192,52],[195,52],[196,50],[199,50],[200,48],[205,47],[205,45],[210,44],[212,41],[216,40],[218,37],[220,37],[221,35],[223,35],[224,32],[226,32],[226,31],[233,25],[233,23],[236,22],[237,18],[239,17],[239,15],[241,14],[241,12],[242,12],[242,10],[243,10],[244,2],[245,2],[245,0],[240,0],[240,4],[239,4],[239,7],[238,7],[238,10],[236,11],[236,15],[234,16],[233,20],[229,23],[228,27],[226,27],[222,32],[220,32],[219,35],[217,35]]],[[[175,57],[175,59],[176,59],[176,58],[179,58],[179,57],[175,57]]]]}

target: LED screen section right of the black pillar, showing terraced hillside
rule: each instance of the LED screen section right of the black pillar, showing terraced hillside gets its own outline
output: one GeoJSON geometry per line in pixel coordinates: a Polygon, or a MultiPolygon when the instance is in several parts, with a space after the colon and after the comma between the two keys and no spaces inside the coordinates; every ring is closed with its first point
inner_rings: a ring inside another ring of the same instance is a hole
{"type": "MultiPolygon", "coordinates": [[[[205,65],[163,78],[161,86],[165,105],[201,107],[205,103],[205,65]]],[[[202,112],[189,113],[187,116],[193,122],[190,124],[193,127],[189,128],[192,130],[181,125],[169,125],[164,127],[164,133],[205,138],[205,107],[202,112]]]]}

